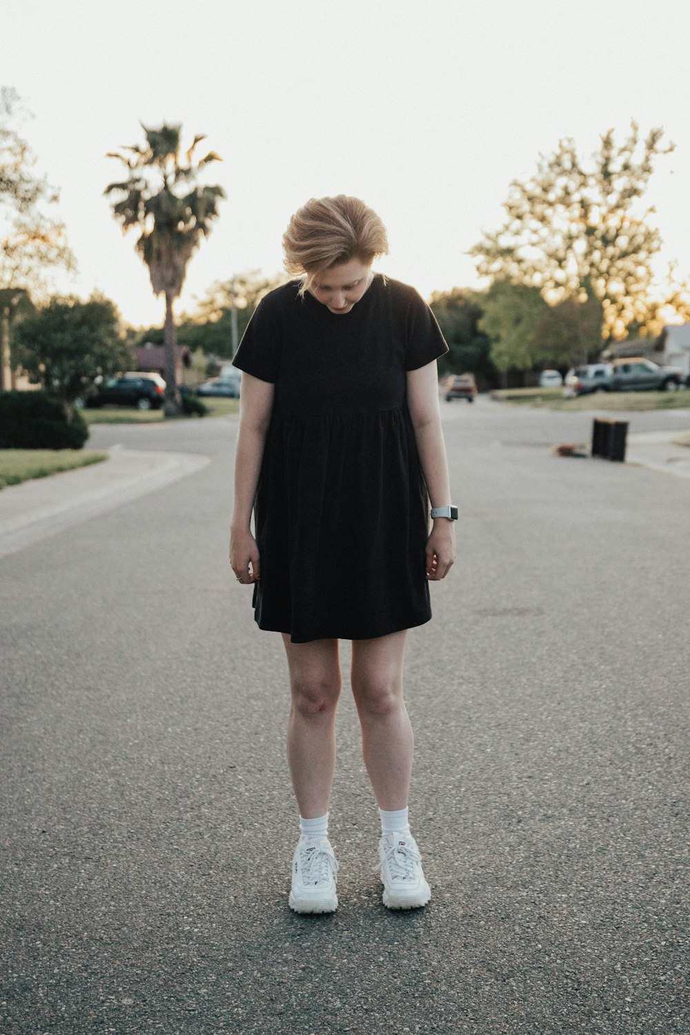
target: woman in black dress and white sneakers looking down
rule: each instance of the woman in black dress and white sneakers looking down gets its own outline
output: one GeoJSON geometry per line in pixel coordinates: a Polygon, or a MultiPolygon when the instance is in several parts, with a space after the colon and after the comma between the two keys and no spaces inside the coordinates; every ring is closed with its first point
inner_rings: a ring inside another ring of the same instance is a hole
{"type": "Polygon", "coordinates": [[[406,630],[431,617],[427,581],[445,578],[455,556],[436,363],[447,346],[414,289],[372,272],[386,230],[358,199],[307,202],[283,248],[300,279],[260,302],[235,358],[230,557],[238,582],[253,586],[260,628],[281,632],[288,655],[300,811],[290,906],[337,908],[328,808],[343,639],[382,823],[383,900],[414,909],[430,890],[408,823],[402,661],[406,630]]]}

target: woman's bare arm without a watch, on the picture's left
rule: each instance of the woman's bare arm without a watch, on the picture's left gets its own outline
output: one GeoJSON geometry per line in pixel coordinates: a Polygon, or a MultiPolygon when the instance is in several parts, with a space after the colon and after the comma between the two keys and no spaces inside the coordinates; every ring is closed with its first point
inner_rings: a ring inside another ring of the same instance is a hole
{"type": "Polygon", "coordinates": [[[230,526],[230,563],[240,582],[261,578],[257,540],[251,534],[251,510],[264,456],[266,433],[273,409],[274,386],[242,374],[240,428],[235,450],[235,505],[230,526]]]}

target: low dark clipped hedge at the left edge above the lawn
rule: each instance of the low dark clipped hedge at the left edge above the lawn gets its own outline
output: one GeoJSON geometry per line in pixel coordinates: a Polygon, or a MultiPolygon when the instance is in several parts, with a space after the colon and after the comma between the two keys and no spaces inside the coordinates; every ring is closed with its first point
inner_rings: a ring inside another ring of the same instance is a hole
{"type": "Polygon", "coordinates": [[[0,392],[0,449],[81,449],[89,437],[82,415],[43,391],[0,392]]]}

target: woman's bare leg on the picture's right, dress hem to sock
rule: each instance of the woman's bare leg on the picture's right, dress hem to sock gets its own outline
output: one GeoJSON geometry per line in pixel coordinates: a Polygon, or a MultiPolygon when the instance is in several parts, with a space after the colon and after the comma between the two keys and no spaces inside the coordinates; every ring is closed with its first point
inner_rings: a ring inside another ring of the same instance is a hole
{"type": "Polygon", "coordinates": [[[354,640],[352,689],[362,727],[362,753],[380,808],[406,808],[415,738],[402,698],[407,631],[354,640]]]}

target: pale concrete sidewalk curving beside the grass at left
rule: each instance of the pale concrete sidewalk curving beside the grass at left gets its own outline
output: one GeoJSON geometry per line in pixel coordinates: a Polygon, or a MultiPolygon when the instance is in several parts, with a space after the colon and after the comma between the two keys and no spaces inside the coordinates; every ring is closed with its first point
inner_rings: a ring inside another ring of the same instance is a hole
{"type": "Polygon", "coordinates": [[[90,467],[34,478],[0,492],[0,557],[151,493],[210,463],[193,453],[114,446],[90,467]]]}

